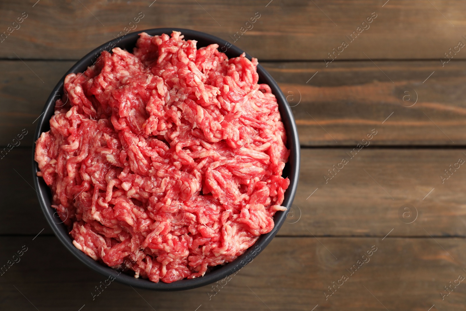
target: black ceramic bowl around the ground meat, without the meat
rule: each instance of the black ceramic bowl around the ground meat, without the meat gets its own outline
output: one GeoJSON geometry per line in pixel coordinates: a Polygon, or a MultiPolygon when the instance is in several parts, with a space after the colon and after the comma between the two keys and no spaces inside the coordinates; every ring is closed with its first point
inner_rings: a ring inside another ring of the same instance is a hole
{"type": "MultiPolygon", "coordinates": [[[[141,30],[138,32],[130,33],[124,35],[120,38],[115,40],[109,41],[100,47],[96,48],[88,55],[82,57],[81,60],[75,63],[71,69],[65,74],[68,75],[69,73],[78,73],[83,72],[87,69],[88,66],[92,65],[93,62],[96,61],[97,55],[100,55],[100,52],[103,50],[110,51],[113,47],[119,47],[126,49],[132,52],[133,48],[136,45],[137,38],[139,37],[138,34],[141,32],[146,32],[149,35],[161,35],[161,34],[168,34],[170,35],[173,30],[180,31],[182,35],[185,36],[185,40],[196,40],[198,41],[197,47],[205,47],[212,43],[217,43],[219,45],[219,50],[221,52],[225,52],[228,58],[237,57],[243,51],[240,48],[231,45],[228,41],[220,39],[218,37],[214,37],[212,35],[208,35],[199,31],[194,31],[190,29],[181,29],[181,28],[155,28],[155,29],[147,29],[141,30]]],[[[251,59],[251,56],[246,54],[247,58],[251,59]]],[[[299,165],[300,165],[300,148],[299,148],[299,139],[298,139],[298,132],[296,130],[295,119],[291,112],[290,107],[288,106],[286,98],[283,96],[280,88],[278,87],[277,83],[274,81],[272,76],[270,76],[267,71],[262,68],[262,66],[257,66],[257,72],[259,74],[259,83],[267,83],[274,93],[275,97],[277,97],[279,109],[281,113],[281,117],[283,123],[285,125],[285,130],[287,132],[287,147],[291,150],[290,157],[288,163],[283,170],[283,177],[287,177],[290,180],[290,185],[285,192],[285,200],[283,201],[283,206],[287,207],[288,209],[291,207],[293,203],[293,199],[296,193],[296,186],[298,184],[298,177],[299,177],[299,165]]],[[[63,80],[64,77],[58,82],[55,88],[52,90],[52,93],[47,99],[45,104],[44,110],[42,115],[39,119],[39,123],[37,125],[37,129],[34,135],[34,142],[39,138],[42,132],[48,131],[50,129],[49,120],[54,113],[54,104],[55,100],[62,96],[63,91],[63,80]]],[[[32,159],[32,166],[33,166],[33,174],[34,174],[34,185],[37,189],[39,202],[42,207],[42,211],[45,214],[45,218],[48,221],[50,227],[52,227],[55,235],[58,237],[60,242],[82,263],[86,264],[89,268],[96,270],[97,272],[103,274],[104,276],[113,276],[117,279],[117,281],[121,283],[125,283],[131,286],[137,286],[140,288],[145,289],[152,289],[152,290],[189,290],[192,288],[204,286],[216,281],[219,281],[226,276],[229,276],[242,267],[244,267],[247,263],[251,262],[255,256],[257,256],[266,246],[267,244],[272,241],[273,237],[276,235],[277,231],[280,229],[281,225],[285,221],[287,217],[287,212],[279,211],[274,215],[274,229],[265,234],[261,235],[259,240],[250,247],[246,253],[239,256],[235,261],[232,263],[227,263],[223,266],[217,266],[210,272],[207,272],[205,276],[198,277],[195,279],[190,280],[180,280],[173,283],[153,283],[147,279],[142,278],[134,278],[133,276],[126,275],[124,273],[119,274],[116,270],[111,269],[110,267],[94,261],[92,258],[84,254],[79,249],[76,249],[72,243],[72,239],[68,234],[68,230],[66,226],[62,223],[60,218],[58,218],[55,209],[52,208],[51,205],[51,193],[48,186],[45,184],[44,180],[41,177],[38,177],[36,173],[39,171],[37,163],[34,161],[34,150],[35,150],[35,143],[33,145],[33,159],[32,159]]]]}

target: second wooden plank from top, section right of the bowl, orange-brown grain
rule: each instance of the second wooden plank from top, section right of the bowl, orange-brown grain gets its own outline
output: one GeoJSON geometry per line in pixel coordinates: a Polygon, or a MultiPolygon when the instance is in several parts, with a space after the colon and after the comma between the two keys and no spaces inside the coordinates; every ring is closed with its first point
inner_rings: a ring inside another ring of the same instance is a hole
{"type": "Polygon", "coordinates": [[[288,96],[301,145],[356,146],[374,128],[374,145],[466,144],[466,62],[332,65],[265,64],[288,96]]]}

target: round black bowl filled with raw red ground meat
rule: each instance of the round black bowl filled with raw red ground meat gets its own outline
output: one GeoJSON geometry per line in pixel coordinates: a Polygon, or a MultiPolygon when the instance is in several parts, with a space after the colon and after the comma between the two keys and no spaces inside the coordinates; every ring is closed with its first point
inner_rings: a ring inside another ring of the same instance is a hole
{"type": "Polygon", "coordinates": [[[127,34],[84,56],[52,90],[34,141],[58,239],[89,268],[153,290],[236,274],[285,221],[299,175],[274,79],[189,29],[127,34]]]}

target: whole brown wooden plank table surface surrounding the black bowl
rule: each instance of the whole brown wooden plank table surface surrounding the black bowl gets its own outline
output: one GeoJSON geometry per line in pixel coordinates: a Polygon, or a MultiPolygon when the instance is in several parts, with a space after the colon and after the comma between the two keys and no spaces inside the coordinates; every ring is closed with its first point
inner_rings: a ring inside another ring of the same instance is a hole
{"type": "Polygon", "coordinates": [[[1,310],[465,309],[464,1],[151,2],[0,3],[0,31],[18,28],[0,43],[0,145],[27,131],[0,159],[0,265],[23,250],[0,276],[1,310]],[[31,187],[32,137],[50,90],[138,15],[135,31],[192,28],[233,43],[257,12],[234,44],[294,106],[302,168],[287,223],[217,293],[113,282],[93,300],[105,277],[58,242],[31,187]]]}

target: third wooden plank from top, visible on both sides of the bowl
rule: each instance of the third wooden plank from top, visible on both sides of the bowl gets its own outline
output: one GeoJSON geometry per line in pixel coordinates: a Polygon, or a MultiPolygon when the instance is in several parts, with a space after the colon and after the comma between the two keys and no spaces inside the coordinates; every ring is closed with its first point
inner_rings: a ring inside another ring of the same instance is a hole
{"type": "MultiPolygon", "coordinates": [[[[466,160],[465,149],[369,146],[356,156],[353,151],[354,158],[350,158],[351,151],[302,149],[293,209],[279,235],[383,237],[393,228],[391,235],[395,236],[466,236],[466,169],[458,164],[460,168],[452,170],[452,176],[443,184],[440,178],[459,158],[466,160]],[[328,170],[338,166],[343,158],[349,163],[339,172],[335,170],[335,177],[326,183],[324,176],[332,176],[328,170]],[[435,189],[431,192],[432,188],[435,189]],[[410,214],[410,210],[404,210],[405,204],[413,205],[417,212],[411,207],[410,214]],[[405,212],[408,213],[403,217],[405,212]],[[411,224],[406,223],[414,219],[411,224]]],[[[9,176],[0,181],[0,195],[4,198],[0,234],[35,235],[42,228],[44,233],[51,233],[34,189],[27,185],[33,185],[30,159],[29,148],[17,148],[0,160],[2,176],[9,176]]]]}

